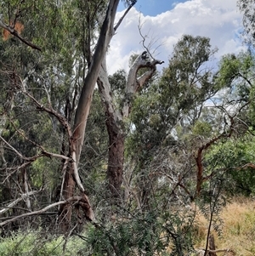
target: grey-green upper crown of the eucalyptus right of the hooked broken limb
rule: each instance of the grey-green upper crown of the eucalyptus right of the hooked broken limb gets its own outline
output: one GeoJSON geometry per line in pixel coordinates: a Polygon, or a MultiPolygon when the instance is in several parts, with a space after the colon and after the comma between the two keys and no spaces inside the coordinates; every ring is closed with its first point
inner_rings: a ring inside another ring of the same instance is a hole
{"type": "MultiPolygon", "coordinates": [[[[185,133],[190,132],[190,126],[201,115],[201,105],[218,92],[214,74],[207,68],[215,51],[207,37],[184,35],[178,41],[161,77],[134,100],[130,117],[134,129],[127,139],[128,152],[135,149],[136,157],[150,159],[151,149],[178,143],[179,138],[173,136],[178,124],[185,133]]],[[[201,135],[208,136],[210,125],[204,122],[204,127],[198,128],[199,123],[195,133],[204,128],[201,135]]]]}

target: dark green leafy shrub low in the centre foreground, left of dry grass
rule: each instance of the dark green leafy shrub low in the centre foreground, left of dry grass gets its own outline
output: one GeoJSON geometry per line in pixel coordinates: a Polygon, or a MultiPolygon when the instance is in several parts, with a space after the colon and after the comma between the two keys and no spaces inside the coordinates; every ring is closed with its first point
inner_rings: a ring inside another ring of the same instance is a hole
{"type": "Polygon", "coordinates": [[[90,225],[87,242],[91,253],[98,256],[165,255],[169,243],[187,252],[191,245],[183,242],[190,236],[191,219],[180,219],[178,214],[169,214],[156,216],[155,211],[139,213],[132,218],[116,219],[112,224],[90,225]]]}

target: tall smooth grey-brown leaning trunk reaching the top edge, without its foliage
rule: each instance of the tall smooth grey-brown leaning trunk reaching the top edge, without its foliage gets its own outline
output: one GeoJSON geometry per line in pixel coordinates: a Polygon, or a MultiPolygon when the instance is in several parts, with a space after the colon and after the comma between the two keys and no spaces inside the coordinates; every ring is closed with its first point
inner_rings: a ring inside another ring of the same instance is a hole
{"type": "MultiPolygon", "coordinates": [[[[99,39],[97,46],[94,50],[94,55],[91,59],[91,63],[88,68],[87,76],[84,79],[82,87],[82,93],[77,105],[77,111],[75,115],[73,134],[71,136],[70,154],[73,159],[71,166],[69,165],[64,174],[64,181],[61,191],[60,200],[67,200],[74,195],[75,187],[78,186],[81,191],[82,198],[87,202],[85,217],[93,220],[94,213],[88,201],[88,196],[85,195],[84,188],[82,186],[81,179],[78,174],[78,164],[82,152],[82,145],[85,136],[85,129],[88,120],[88,114],[93,97],[94,87],[99,76],[99,70],[102,61],[105,58],[106,50],[111,42],[111,38],[114,36],[114,20],[116,16],[116,9],[119,0],[111,0],[108,4],[108,9],[105,14],[105,20],[99,33],[99,39]]],[[[70,228],[72,208],[70,204],[60,205],[59,208],[59,224],[61,224],[61,230],[66,232],[70,228]]]]}

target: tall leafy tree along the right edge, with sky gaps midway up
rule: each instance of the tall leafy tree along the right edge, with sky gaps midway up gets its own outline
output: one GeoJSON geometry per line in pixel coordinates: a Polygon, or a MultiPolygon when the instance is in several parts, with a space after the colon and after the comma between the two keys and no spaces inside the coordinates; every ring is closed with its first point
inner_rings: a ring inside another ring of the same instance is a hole
{"type": "Polygon", "coordinates": [[[251,51],[227,54],[220,61],[216,79],[224,91],[221,100],[215,102],[218,115],[214,120],[220,123],[219,131],[225,139],[213,145],[208,157],[217,158],[218,169],[226,170],[232,184],[232,189],[226,190],[231,194],[253,192],[254,63],[251,51]]]}

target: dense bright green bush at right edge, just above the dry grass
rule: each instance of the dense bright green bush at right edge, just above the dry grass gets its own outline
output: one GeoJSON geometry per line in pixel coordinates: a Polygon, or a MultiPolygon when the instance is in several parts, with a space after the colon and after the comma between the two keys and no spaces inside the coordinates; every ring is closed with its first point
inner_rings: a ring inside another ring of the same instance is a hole
{"type": "Polygon", "coordinates": [[[215,168],[226,171],[228,185],[225,190],[232,195],[254,194],[254,143],[254,137],[247,133],[242,139],[229,139],[218,143],[207,153],[207,162],[212,162],[215,168]]]}

